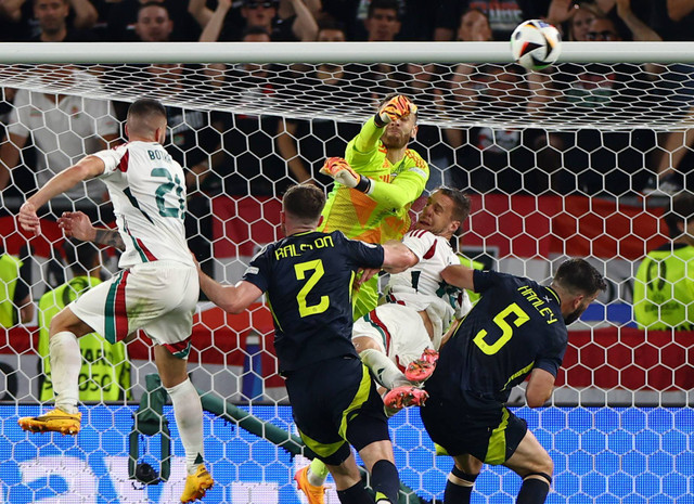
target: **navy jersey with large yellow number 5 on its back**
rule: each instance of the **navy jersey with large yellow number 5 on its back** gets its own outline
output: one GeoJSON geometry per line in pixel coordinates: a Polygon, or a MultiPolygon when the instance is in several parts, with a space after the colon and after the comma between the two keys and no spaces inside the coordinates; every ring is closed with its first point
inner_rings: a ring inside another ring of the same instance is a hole
{"type": "Polygon", "coordinates": [[[441,347],[426,390],[445,397],[468,391],[506,402],[532,369],[556,376],[568,341],[558,295],[494,271],[475,270],[474,285],[481,297],[441,347]]]}

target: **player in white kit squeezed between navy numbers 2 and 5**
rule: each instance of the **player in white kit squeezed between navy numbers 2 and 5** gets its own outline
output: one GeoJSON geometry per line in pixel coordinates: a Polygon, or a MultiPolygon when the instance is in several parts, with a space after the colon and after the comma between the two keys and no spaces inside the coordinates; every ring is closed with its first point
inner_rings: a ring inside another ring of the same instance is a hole
{"type": "Polygon", "coordinates": [[[444,335],[472,308],[467,294],[447,285],[441,271],[460,260],[450,238],[470,215],[461,191],[439,188],[429,196],[402,243],[419,258],[416,266],[391,274],[385,303],[355,322],[352,343],[376,379],[389,389],[391,410],[421,404],[426,392],[415,387],[434,372],[444,335]]]}

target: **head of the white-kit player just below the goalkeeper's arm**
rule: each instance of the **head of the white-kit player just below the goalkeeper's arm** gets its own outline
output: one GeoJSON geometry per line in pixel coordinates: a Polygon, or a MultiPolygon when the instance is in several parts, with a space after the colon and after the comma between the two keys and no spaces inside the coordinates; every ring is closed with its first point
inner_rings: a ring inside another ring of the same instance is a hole
{"type": "Polygon", "coordinates": [[[438,188],[422,208],[415,228],[450,240],[468,216],[470,198],[462,191],[438,188]]]}

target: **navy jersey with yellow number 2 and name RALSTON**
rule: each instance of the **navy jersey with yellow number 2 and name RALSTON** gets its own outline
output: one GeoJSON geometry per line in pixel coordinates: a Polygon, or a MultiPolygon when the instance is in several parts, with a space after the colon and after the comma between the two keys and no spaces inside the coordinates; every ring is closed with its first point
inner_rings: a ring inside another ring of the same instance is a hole
{"type": "Polygon", "coordinates": [[[300,233],[266,246],[243,280],[266,293],[280,371],[342,356],[351,344],[351,287],[359,268],[381,268],[383,247],[335,231],[300,233]]]}

